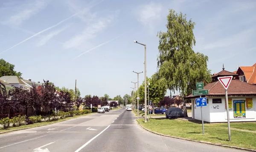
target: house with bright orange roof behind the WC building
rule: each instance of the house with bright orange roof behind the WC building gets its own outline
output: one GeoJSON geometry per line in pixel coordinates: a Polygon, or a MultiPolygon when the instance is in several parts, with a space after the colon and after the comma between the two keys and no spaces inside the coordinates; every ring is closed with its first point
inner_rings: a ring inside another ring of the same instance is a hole
{"type": "Polygon", "coordinates": [[[236,74],[240,81],[256,85],[256,63],[251,67],[239,67],[236,74]]]}

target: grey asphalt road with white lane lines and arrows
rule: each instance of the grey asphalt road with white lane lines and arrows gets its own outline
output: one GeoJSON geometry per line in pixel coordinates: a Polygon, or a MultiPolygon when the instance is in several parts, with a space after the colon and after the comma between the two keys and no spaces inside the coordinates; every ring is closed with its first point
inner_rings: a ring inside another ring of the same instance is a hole
{"type": "Polygon", "coordinates": [[[0,135],[0,152],[239,152],[163,137],[125,109],[0,135]]]}

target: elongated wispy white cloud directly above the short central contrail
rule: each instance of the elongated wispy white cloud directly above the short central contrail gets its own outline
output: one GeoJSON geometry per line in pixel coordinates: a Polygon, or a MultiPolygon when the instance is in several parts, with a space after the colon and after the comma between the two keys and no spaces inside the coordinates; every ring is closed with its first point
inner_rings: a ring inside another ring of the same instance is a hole
{"type": "Polygon", "coordinates": [[[108,27],[108,25],[113,21],[116,15],[109,15],[105,18],[99,18],[96,22],[88,25],[81,34],[78,34],[68,41],[66,41],[63,45],[64,48],[78,48],[84,42],[93,39],[96,35],[108,27]]]}

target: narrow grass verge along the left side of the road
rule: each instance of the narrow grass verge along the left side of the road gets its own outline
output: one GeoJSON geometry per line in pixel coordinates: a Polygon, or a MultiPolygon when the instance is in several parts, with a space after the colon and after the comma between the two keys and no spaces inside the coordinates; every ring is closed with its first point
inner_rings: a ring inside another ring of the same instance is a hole
{"type": "Polygon", "coordinates": [[[6,128],[6,129],[3,129],[3,127],[0,127],[0,133],[10,132],[12,130],[17,130],[17,129],[28,129],[28,128],[33,128],[33,127],[39,127],[39,126],[42,126],[42,125],[55,124],[57,122],[66,121],[66,120],[70,120],[70,119],[74,119],[74,118],[79,118],[79,117],[82,117],[82,116],[85,116],[85,115],[91,115],[91,114],[94,114],[94,113],[87,113],[87,114],[83,114],[83,115],[74,115],[73,117],[61,118],[61,119],[53,120],[53,121],[38,122],[38,123],[35,123],[35,124],[22,125],[22,126],[19,126],[19,127],[12,127],[11,126],[9,128],[6,128]]]}

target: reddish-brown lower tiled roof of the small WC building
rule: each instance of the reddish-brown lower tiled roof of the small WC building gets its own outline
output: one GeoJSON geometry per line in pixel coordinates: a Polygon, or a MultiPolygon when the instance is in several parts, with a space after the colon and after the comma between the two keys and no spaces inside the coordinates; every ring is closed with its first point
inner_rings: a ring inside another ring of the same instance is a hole
{"type": "MultiPolygon", "coordinates": [[[[204,89],[209,90],[209,95],[207,96],[225,96],[225,89],[222,84],[217,82],[212,82],[204,86],[204,89]]],[[[256,96],[256,85],[248,84],[246,82],[241,82],[239,80],[233,79],[227,89],[229,96],[241,96],[241,95],[253,95],[256,96]]],[[[186,96],[186,98],[194,97],[192,94],[186,96]]]]}

